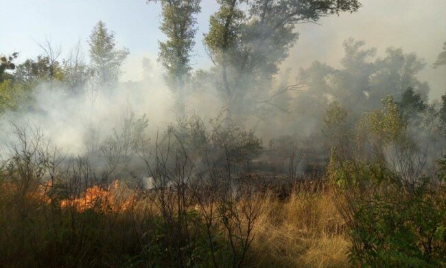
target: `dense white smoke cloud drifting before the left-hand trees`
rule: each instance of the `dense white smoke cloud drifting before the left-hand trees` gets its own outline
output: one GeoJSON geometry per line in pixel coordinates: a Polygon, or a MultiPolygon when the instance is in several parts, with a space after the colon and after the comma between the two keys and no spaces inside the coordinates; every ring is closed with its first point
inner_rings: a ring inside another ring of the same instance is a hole
{"type": "Polygon", "coordinates": [[[87,86],[74,95],[62,87],[51,90],[47,83],[40,84],[32,91],[31,112],[21,104],[19,111],[2,116],[1,141],[10,141],[12,124],[19,127],[32,124],[52,143],[77,155],[85,152],[88,142],[100,142],[113,129],[119,129],[131,113],[135,118],[146,115],[148,129],[152,130],[172,122],[175,118],[172,93],[165,87],[161,71],[151,71],[140,82],[121,83],[113,94],[87,86]],[[97,140],[88,140],[92,132],[97,140]]]}

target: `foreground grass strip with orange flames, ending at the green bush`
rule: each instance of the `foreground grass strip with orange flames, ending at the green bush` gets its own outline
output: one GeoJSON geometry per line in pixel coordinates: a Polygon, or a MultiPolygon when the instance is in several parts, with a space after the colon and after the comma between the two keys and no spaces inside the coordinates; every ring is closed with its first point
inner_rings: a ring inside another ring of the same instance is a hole
{"type": "Polygon", "coordinates": [[[347,265],[349,243],[331,189],[296,187],[287,199],[268,191],[230,202],[192,197],[190,189],[184,200],[175,188],[137,190],[119,181],[58,200],[48,195],[53,187],[42,183],[27,202],[11,206],[17,192],[1,183],[1,260],[8,267],[347,265]]]}

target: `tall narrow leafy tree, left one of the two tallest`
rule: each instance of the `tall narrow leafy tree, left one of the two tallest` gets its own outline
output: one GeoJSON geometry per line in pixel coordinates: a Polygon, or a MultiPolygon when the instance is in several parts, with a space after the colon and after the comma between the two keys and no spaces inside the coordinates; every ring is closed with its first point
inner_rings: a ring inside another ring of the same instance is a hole
{"type": "MultiPolygon", "coordinates": [[[[148,2],[157,0],[148,0],[148,2]]],[[[167,84],[176,92],[178,114],[185,115],[185,80],[191,70],[189,58],[197,32],[195,15],[200,12],[200,0],[161,0],[163,23],[161,31],[167,41],[159,42],[159,60],[167,70],[167,84]]]]}

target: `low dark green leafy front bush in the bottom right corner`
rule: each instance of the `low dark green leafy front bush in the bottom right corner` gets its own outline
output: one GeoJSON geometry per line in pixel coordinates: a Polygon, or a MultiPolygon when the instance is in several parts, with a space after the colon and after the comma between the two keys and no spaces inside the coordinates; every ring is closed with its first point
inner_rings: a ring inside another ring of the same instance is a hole
{"type": "Polygon", "coordinates": [[[444,267],[444,188],[422,183],[414,190],[386,183],[352,201],[349,259],[363,267],[444,267]]]}

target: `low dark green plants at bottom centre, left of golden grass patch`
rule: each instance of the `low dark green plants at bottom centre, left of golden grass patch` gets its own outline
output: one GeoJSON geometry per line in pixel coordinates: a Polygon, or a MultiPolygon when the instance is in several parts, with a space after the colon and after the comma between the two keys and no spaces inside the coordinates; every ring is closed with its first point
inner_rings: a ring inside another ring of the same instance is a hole
{"type": "Polygon", "coordinates": [[[209,227],[211,235],[209,238],[209,234],[205,231],[207,230],[206,223],[197,212],[187,212],[185,217],[190,226],[183,226],[184,229],[181,230],[178,230],[178,226],[175,225],[180,220],[178,216],[168,223],[159,216],[150,219],[150,231],[145,232],[141,238],[142,250],[128,259],[126,267],[140,267],[146,264],[149,267],[179,265],[204,268],[215,267],[215,260],[218,260],[218,267],[231,265],[231,249],[218,225],[213,224],[209,227]],[[187,228],[196,230],[189,238],[187,228]]]}

